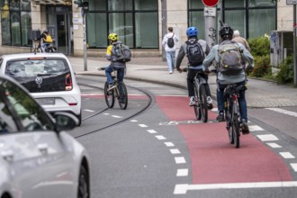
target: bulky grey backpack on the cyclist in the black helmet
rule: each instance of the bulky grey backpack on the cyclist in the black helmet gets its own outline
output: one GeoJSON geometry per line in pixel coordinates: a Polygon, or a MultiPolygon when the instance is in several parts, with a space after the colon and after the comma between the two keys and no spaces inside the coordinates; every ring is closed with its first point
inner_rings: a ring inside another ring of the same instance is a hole
{"type": "Polygon", "coordinates": [[[237,75],[240,73],[244,64],[242,61],[242,50],[234,40],[225,40],[220,43],[218,48],[219,71],[225,75],[237,75]]]}

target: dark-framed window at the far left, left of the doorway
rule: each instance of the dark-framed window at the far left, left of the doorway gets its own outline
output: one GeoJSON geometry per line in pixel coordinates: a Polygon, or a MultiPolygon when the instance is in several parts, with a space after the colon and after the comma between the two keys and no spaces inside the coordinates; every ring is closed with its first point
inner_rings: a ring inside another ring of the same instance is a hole
{"type": "Polygon", "coordinates": [[[2,44],[29,46],[31,1],[0,0],[2,44]]]}

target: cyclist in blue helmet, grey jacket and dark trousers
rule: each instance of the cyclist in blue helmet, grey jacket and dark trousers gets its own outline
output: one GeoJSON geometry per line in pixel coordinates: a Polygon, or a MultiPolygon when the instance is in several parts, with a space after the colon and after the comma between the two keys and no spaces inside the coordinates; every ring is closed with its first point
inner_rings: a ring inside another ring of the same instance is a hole
{"type": "MultiPolygon", "coordinates": [[[[210,52],[210,47],[207,45],[205,40],[198,40],[198,29],[196,27],[189,27],[186,30],[186,35],[188,37],[188,40],[183,43],[181,48],[179,49],[177,58],[176,58],[176,69],[182,73],[183,69],[180,68],[181,63],[183,61],[184,55],[188,58],[188,74],[186,77],[187,80],[187,88],[188,88],[188,95],[190,98],[190,106],[193,106],[196,104],[195,97],[194,97],[194,91],[193,91],[193,78],[196,76],[198,71],[201,71],[202,69],[205,71],[205,73],[202,73],[202,77],[205,78],[205,81],[208,81],[208,74],[206,71],[209,71],[209,68],[204,68],[202,66],[202,61],[192,61],[193,59],[197,58],[200,59],[200,56],[203,60],[205,57],[205,54],[207,55],[210,52]],[[199,49],[195,49],[195,43],[199,44],[199,48],[202,49],[202,53],[191,53],[191,51],[199,51],[199,49]],[[189,50],[189,46],[193,46],[194,50],[189,50]]],[[[205,84],[206,94],[207,94],[207,103],[209,109],[212,109],[212,100],[211,100],[211,90],[210,86],[208,84],[205,84]]]]}

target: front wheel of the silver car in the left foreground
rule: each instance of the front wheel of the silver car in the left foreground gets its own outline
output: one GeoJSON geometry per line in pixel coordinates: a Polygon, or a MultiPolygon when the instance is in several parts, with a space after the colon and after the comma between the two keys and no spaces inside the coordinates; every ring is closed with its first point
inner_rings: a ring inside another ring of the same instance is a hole
{"type": "Polygon", "coordinates": [[[78,176],[78,188],[77,188],[77,198],[89,198],[90,197],[90,186],[89,178],[86,172],[85,166],[80,167],[78,176]]]}

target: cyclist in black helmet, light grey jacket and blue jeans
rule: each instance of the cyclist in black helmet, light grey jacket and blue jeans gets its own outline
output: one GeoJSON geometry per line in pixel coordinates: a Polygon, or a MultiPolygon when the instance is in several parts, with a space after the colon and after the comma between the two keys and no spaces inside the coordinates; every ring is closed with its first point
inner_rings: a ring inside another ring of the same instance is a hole
{"type": "MultiPolygon", "coordinates": [[[[228,24],[224,24],[220,28],[220,38],[224,42],[225,40],[232,40],[233,37],[233,29],[228,24]]],[[[203,66],[209,67],[211,65],[212,60],[216,60],[217,63],[219,63],[219,46],[215,45],[212,47],[210,54],[204,59],[203,66]]],[[[249,51],[245,48],[244,45],[241,43],[238,43],[239,50],[242,51],[241,55],[244,60],[247,61],[248,67],[253,67],[254,64],[254,58],[249,53],[249,51]]],[[[245,62],[242,62],[243,65],[245,65],[245,62]]],[[[238,85],[245,85],[246,84],[246,73],[245,70],[242,69],[237,75],[224,75],[220,72],[220,69],[218,69],[217,74],[217,101],[218,101],[218,109],[219,109],[219,115],[217,117],[217,121],[225,121],[224,117],[224,89],[229,84],[238,84],[238,85]]],[[[239,92],[239,109],[240,109],[240,115],[241,115],[241,125],[242,125],[242,132],[243,134],[248,134],[248,126],[247,126],[247,101],[245,97],[245,90],[242,90],[239,92]]]]}

